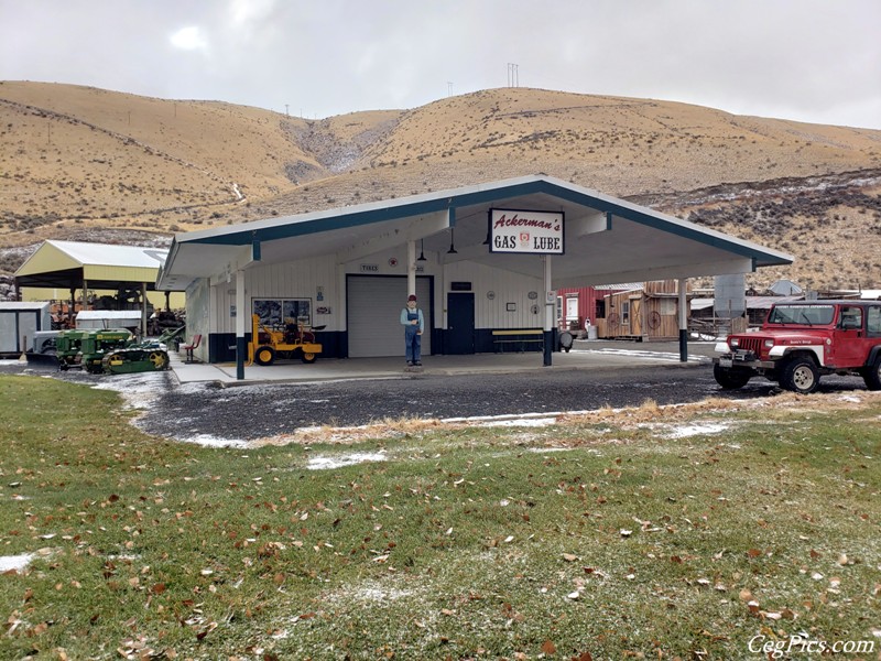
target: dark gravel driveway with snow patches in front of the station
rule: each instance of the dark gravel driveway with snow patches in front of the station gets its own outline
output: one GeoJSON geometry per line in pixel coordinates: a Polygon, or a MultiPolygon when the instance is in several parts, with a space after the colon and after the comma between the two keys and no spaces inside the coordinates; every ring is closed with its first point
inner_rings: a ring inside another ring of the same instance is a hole
{"type": "MultiPolygon", "coordinates": [[[[433,376],[309,384],[261,383],[220,388],[180,386],[172,372],[115,377],[77,370],[7,365],[0,373],[28,372],[97,388],[119,390],[129,405],[143,411],[145,432],[181,440],[248,442],[290,434],[311,426],[355,426],[402,418],[450,419],[587,411],[694,402],[708,397],[764,398],[774,383],[751,381],[722,391],[709,365],[569,370],[553,373],[433,376]]],[[[864,390],[861,379],[824,377],[820,392],[864,390]]]]}

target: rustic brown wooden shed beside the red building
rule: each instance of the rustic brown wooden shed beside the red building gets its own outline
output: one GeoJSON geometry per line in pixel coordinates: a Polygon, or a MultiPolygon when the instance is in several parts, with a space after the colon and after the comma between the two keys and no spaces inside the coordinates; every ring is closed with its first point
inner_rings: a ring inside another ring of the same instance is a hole
{"type": "Polygon", "coordinates": [[[640,342],[675,340],[679,337],[678,295],[676,280],[646,282],[639,289],[608,294],[605,296],[606,316],[597,318],[597,336],[640,342]]]}

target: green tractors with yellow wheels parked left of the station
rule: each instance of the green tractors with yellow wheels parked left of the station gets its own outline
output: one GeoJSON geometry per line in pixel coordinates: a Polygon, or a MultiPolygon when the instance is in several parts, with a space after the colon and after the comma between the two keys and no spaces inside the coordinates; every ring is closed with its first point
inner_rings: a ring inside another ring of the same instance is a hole
{"type": "Polygon", "coordinates": [[[168,354],[157,343],[135,344],[124,328],[62,330],[56,340],[58,367],[100,373],[131,373],[168,368],[168,354]]]}

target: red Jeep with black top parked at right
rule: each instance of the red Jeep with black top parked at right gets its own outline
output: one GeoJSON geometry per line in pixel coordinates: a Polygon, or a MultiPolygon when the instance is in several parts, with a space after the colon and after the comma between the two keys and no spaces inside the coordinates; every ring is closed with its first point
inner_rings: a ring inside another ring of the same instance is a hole
{"type": "Polygon", "coordinates": [[[716,351],[713,376],[727,390],[761,376],[807,394],[833,373],[881,390],[881,301],[779,303],[759,330],[730,335],[716,351]]]}

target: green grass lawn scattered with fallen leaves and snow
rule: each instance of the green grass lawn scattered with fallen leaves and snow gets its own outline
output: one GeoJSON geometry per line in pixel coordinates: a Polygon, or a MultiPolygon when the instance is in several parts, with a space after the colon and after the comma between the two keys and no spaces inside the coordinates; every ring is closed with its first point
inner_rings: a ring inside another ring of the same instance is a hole
{"type": "Polygon", "coordinates": [[[0,402],[0,555],[32,554],[0,575],[2,659],[881,651],[878,394],[249,449],[53,379],[0,402]]]}

